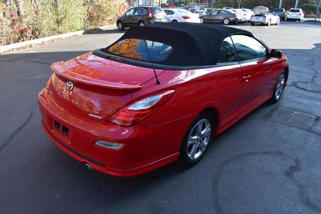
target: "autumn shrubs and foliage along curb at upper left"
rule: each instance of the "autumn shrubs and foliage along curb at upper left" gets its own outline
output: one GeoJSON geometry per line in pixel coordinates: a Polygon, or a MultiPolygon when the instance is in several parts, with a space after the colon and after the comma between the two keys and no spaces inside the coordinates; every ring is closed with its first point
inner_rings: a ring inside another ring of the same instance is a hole
{"type": "Polygon", "coordinates": [[[23,13],[16,4],[0,3],[1,45],[115,24],[117,17],[129,8],[117,0],[20,2],[23,13]]]}

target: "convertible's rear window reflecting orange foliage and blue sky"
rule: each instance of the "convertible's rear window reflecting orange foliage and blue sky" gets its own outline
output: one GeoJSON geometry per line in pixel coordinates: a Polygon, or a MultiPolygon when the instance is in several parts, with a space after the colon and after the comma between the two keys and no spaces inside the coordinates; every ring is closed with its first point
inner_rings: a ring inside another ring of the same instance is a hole
{"type": "Polygon", "coordinates": [[[112,54],[131,59],[162,62],[172,53],[173,50],[171,46],[160,42],[146,40],[146,43],[142,39],[124,39],[115,43],[107,51],[112,54]],[[150,58],[148,52],[150,54],[150,58]]]}

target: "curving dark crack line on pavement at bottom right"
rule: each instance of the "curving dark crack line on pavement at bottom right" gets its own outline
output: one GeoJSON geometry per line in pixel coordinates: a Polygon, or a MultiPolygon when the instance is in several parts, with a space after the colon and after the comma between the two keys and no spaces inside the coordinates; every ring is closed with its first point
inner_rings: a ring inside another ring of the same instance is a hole
{"type": "MultiPolygon", "coordinates": [[[[290,155],[287,155],[283,152],[280,151],[267,151],[267,152],[248,152],[248,153],[244,153],[244,154],[240,154],[240,155],[236,155],[234,157],[231,157],[229,159],[226,159],[225,161],[223,161],[220,166],[217,168],[217,171],[215,173],[214,179],[213,179],[213,203],[214,203],[214,209],[216,211],[216,213],[224,213],[223,209],[220,205],[220,198],[219,198],[219,184],[220,184],[220,177],[221,174],[224,170],[224,168],[229,165],[230,163],[232,163],[233,161],[239,160],[241,158],[244,157],[250,157],[250,156],[255,156],[255,155],[260,155],[260,156],[287,156],[290,158],[290,155]]],[[[311,203],[308,192],[306,190],[306,187],[302,184],[302,182],[300,182],[297,178],[295,178],[294,176],[294,172],[298,172],[301,171],[301,162],[299,161],[299,159],[297,158],[293,158],[295,161],[295,165],[290,166],[288,169],[286,169],[284,171],[285,176],[290,179],[293,180],[297,186],[300,189],[300,202],[302,202],[305,206],[307,206],[308,208],[321,213],[321,208],[318,207],[317,205],[311,203]]]]}

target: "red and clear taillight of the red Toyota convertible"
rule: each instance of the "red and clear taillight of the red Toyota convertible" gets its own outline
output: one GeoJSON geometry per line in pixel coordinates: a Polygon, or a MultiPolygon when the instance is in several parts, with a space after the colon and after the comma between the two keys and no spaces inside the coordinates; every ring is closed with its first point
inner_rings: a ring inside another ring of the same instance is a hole
{"type": "Polygon", "coordinates": [[[124,127],[134,126],[161,109],[174,94],[175,90],[167,90],[139,99],[119,110],[108,121],[124,127]]]}

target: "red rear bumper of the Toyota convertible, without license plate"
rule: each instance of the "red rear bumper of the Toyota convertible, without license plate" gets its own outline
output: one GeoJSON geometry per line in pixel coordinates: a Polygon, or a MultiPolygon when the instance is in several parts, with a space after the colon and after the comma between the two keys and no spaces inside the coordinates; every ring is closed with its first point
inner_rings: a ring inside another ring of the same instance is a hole
{"type": "Polygon", "coordinates": [[[38,101],[42,127],[60,149],[76,160],[88,163],[93,169],[121,177],[145,173],[177,160],[185,132],[195,117],[192,115],[155,127],[137,125],[124,128],[63,109],[47,89],[39,93],[38,101]],[[70,136],[58,132],[54,121],[68,127],[70,136]],[[113,150],[95,145],[97,140],[124,145],[113,150]]]}

